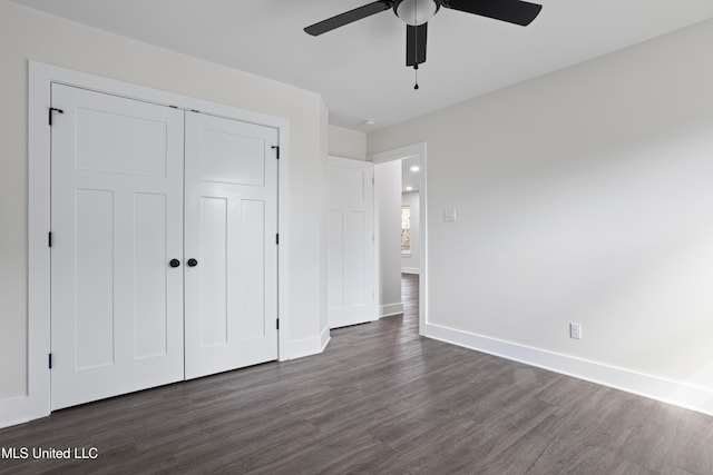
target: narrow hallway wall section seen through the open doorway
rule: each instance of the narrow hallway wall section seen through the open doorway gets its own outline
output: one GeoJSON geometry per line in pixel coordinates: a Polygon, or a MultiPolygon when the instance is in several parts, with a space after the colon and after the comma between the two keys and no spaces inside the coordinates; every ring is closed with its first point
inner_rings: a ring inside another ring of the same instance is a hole
{"type": "Polygon", "coordinates": [[[401,301],[401,160],[374,165],[374,224],[379,316],[403,311],[401,301]]]}

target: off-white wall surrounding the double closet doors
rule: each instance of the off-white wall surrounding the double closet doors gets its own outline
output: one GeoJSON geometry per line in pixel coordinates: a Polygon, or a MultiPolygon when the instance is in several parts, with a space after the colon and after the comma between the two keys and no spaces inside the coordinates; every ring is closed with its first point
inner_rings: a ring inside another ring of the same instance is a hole
{"type": "Polygon", "coordinates": [[[281,232],[292,253],[282,337],[302,348],[319,343],[326,321],[321,98],[0,0],[0,406],[27,393],[28,59],[286,118],[291,217],[281,232]]]}

